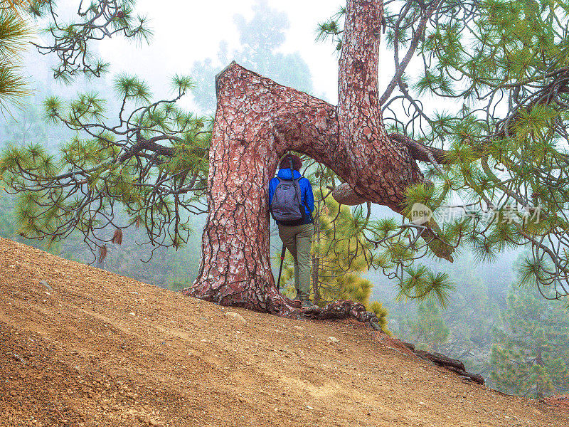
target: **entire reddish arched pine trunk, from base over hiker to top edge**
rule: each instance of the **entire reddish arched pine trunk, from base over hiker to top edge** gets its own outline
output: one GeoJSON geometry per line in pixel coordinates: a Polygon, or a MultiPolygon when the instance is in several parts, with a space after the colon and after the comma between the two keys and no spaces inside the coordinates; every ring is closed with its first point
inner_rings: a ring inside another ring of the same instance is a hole
{"type": "MultiPolygon", "coordinates": [[[[290,314],[292,307],[272,277],[267,211],[268,182],[288,150],[309,155],[345,179],[346,200],[369,200],[400,212],[405,188],[422,181],[410,149],[390,139],[381,120],[382,4],[348,1],[338,107],[236,63],[217,76],[203,259],[198,278],[184,293],[220,305],[290,314]]],[[[334,310],[340,306],[355,310],[355,317],[363,309],[341,304],[334,310]]]]}

